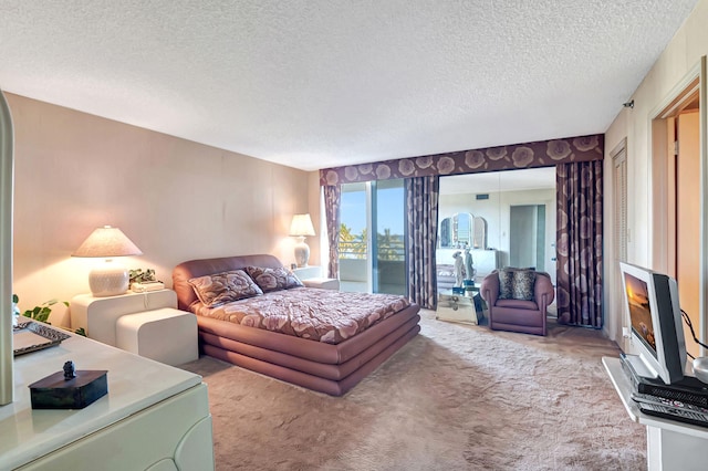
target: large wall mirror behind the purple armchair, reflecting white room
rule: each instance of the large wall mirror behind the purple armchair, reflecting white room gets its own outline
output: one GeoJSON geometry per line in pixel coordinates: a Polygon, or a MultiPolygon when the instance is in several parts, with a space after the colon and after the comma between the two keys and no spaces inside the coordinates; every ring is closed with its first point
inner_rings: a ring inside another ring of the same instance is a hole
{"type": "Polygon", "coordinates": [[[555,199],[555,167],[441,177],[438,289],[452,286],[446,273],[465,242],[476,282],[511,265],[537,266],[554,281],[555,199]]]}

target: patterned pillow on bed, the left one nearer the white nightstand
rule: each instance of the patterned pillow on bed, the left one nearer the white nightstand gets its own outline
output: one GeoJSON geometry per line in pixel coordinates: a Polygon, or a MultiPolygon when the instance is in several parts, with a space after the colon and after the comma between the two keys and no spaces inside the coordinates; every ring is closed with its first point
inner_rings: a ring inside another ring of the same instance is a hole
{"type": "Polygon", "coordinates": [[[263,294],[243,270],[192,278],[189,284],[207,307],[263,294]]]}

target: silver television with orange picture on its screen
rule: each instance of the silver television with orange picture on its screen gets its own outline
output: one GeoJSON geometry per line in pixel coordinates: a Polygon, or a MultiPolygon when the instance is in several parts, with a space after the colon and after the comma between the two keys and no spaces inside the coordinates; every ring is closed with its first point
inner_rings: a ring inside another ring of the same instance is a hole
{"type": "Polygon", "coordinates": [[[684,379],[686,342],[676,280],[649,269],[620,263],[631,324],[629,355],[639,376],[667,385],[684,379]]]}

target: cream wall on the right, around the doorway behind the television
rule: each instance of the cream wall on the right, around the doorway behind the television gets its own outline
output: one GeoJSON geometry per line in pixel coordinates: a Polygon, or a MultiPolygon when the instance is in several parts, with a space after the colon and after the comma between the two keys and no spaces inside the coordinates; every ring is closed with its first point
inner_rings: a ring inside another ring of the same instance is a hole
{"type": "MultiPolygon", "coordinates": [[[[650,117],[664,102],[671,90],[695,67],[702,55],[708,54],[708,0],[701,0],[686,23],[679,29],[675,38],[662,53],[657,62],[648,72],[639,87],[633,94],[634,108],[622,109],[605,134],[605,300],[620,296],[613,289],[614,247],[612,247],[612,159],[610,153],[626,137],[627,142],[627,172],[628,172],[628,261],[656,270],[665,270],[656,251],[658,242],[655,240],[657,228],[654,224],[655,210],[652,186],[652,148],[649,146],[650,117]],[[655,247],[656,245],[656,247],[655,247]],[[656,259],[656,260],[655,260],[656,259]]],[[[701,106],[708,106],[701,103],[701,106]]],[[[697,248],[697,253],[698,253],[697,248]]],[[[705,257],[705,255],[704,255],[705,257]]],[[[620,342],[622,332],[617,326],[621,313],[608,308],[613,305],[605,303],[605,328],[612,338],[620,342]]]]}

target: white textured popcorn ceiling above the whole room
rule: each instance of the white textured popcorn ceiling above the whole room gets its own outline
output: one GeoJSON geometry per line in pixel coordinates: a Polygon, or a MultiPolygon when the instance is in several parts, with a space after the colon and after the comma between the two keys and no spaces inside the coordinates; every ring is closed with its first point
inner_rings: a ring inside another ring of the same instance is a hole
{"type": "Polygon", "coordinates": [[[0,88],[306,170],[604,133],[696,0],[0,0],[0,88]]]}

